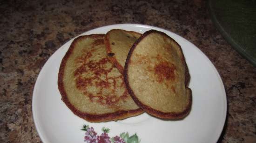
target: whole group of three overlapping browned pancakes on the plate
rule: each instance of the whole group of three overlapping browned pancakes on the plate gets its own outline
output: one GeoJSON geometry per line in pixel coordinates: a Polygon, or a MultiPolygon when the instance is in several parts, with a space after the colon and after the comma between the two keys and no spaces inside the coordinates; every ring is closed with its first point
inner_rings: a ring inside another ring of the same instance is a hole
{"type": "Polygon", "coordinates": [[[192,103],[179,44],[155,30],[111,30],[74,39],[61,61],[58,87],[75,115],[89,122],[147,112],[183,118],[192,103]]]}

